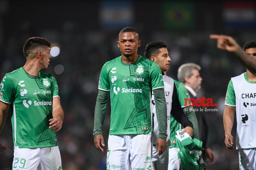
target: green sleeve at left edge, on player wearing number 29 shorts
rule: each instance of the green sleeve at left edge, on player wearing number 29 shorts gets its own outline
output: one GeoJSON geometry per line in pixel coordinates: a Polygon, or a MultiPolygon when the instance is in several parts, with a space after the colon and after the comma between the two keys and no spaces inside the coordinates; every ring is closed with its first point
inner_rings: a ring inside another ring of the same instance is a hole
{"type": "Polygon", "coordinates": [[[5,103],[11,103],[14,98],[15,88],[12,78],[6,73],[1,81],[0,85],[0,101],[5,103]]]}

